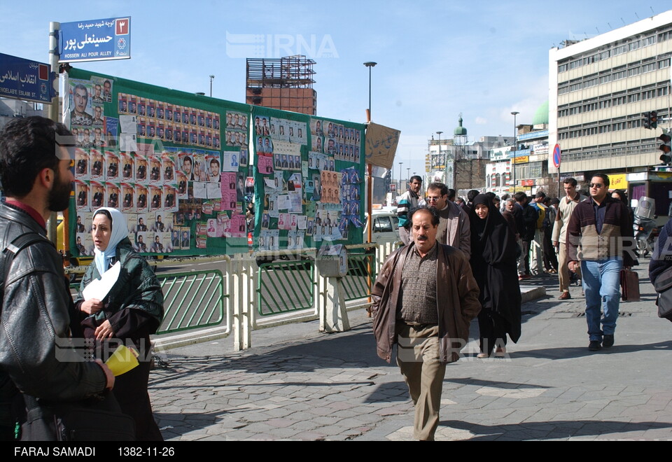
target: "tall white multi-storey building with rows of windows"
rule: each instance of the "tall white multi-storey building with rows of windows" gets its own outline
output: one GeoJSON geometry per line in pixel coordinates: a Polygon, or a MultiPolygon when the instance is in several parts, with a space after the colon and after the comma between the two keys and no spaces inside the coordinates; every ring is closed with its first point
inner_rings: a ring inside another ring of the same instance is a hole
{"type": "MultiPolygon", "coordinates": [[[[549,51],[548,141],[561,146],[561,177],[587,182],[604,172],[666,211],[672,173],[650,167],[660,164],[657,137],[670,123],[646,130],[643,113],[668,120],[671,57],[672,10],[549,51]]],[[[548,172],[557,172],[552,162],[548,172]]]]}

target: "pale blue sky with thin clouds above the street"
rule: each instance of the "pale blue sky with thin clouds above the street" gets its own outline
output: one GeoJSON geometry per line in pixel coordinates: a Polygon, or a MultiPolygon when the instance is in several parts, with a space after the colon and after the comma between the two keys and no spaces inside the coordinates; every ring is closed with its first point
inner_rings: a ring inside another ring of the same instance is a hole
{"type": "Polygon", "coordinates": [[[660,2],[453,0],[2,1],[0,52],[48,62],[49,22],[131,17],[131,59],[73,66],[245,102],[245,57],[314,59],[318,116],[401,130],[394,178],[424,172],[427,140],[532,123],[548,99],[548,50],[662,13],[660,2]],[[410,170],[407,170],[410,169],[410,170]]]}

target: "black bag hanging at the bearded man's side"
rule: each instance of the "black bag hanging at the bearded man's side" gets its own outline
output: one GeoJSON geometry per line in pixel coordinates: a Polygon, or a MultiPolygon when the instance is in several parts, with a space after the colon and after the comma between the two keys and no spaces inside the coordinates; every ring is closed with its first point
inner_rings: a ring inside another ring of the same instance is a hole
{"type": "Polygon", "coordinates": [[[76,402],[48,403],[24,395],[21,441],[134,441],[135,421],[106,391],[76,402]]]}

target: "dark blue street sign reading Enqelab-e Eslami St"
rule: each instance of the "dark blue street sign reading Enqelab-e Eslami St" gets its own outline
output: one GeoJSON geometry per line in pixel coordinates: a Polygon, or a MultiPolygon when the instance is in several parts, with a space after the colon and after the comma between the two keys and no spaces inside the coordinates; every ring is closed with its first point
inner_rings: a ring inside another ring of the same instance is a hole
{"type": "Polygon", "coordinates": [[[54,79],[49,64],[0,53],[0,97],[51,103],[54,79]]]}

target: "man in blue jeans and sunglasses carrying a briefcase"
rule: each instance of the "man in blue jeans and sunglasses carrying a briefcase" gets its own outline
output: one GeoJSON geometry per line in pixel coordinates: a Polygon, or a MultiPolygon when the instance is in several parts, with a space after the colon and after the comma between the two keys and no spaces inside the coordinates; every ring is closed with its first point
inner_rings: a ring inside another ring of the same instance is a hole
{"type": "Polygon", "coordinates": [[[583,276],[590,351],[613,346],[620,271],[633,265],[630,216],[625,204],[612,199],[608,189],[608,176],[594,174],[590,198],[577,204],[567,228],[568,267],[575,272],[580,262],[583,276]]]}

